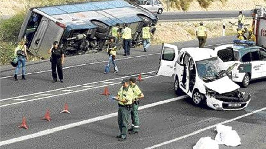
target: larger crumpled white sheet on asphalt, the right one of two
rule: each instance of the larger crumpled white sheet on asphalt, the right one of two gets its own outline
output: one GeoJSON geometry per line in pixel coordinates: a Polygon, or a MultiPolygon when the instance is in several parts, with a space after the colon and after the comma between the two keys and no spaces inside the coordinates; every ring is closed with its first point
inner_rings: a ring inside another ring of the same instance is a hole
{"type": "Polygon", "coordinates": [[[217,135],[215,136],[215,141],[219,144],[224,144],[226,146],[238,146],[241,144],[241,139],[232,127],[225,125],[217,125],[216,129],[217,135]]]}

